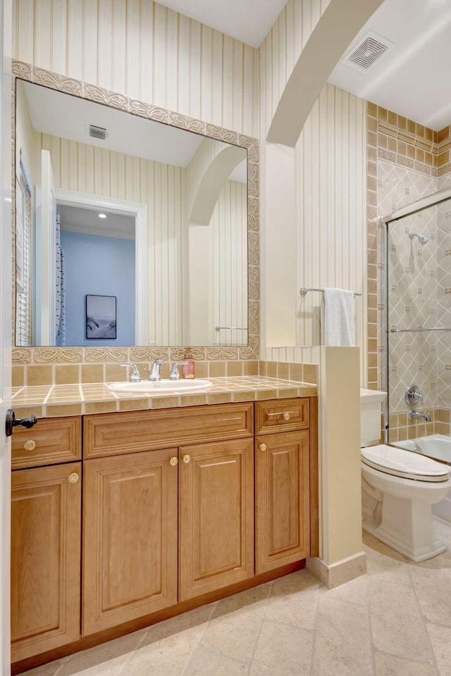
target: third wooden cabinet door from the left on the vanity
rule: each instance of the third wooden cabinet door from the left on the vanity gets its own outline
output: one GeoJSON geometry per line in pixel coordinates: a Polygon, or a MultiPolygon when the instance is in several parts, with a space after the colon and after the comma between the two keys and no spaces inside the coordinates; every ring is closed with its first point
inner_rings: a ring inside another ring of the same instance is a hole
{"type": "Polygon", "coordinates": [[[254,575],[252,439],[180,448],[179,599],[254,575]]]}

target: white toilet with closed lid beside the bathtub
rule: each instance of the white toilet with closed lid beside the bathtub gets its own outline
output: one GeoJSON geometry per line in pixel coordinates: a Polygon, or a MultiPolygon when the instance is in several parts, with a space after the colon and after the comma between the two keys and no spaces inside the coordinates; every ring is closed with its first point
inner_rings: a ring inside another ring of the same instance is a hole
{"type": "Polygon", "coordinates": [[[360,391],[363,527],[418,563],[447,549],[433,530],[431,505],[451,489],[446,465],[378,444],[385,392],[360,391]]]}

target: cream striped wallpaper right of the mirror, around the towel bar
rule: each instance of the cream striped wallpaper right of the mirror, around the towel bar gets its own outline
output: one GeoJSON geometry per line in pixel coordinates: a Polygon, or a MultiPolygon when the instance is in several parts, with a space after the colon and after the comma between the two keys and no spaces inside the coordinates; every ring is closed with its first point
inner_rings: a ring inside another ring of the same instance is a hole
{"type": "MultiPolygon", "coordinates": [[[[313,293],[303,299],[302,286],[362,293],[355,301],[356,339],[357,345],[366,346],[366,102],[326,84],[295,149],[284,149],[282,154],[266,143],[283,87],[327,6],[328,2],[291,0],[260,48],[261,226],[266,265],[262,316],[270,337],[264,344],[267,348],[320,344],[321,297],[313,293]],[[276,183],[282,172],[287,177],[283,195],[276,183]],[[284,239],[279,251],[274,246],[278,233],[284,239]],[[271,317],[277,318],[276,323],[271,317]],[[284,334],[285,343],[280,339],[284,334]]],[[[361,366],[364,382],[366,349],[361,352],[361,366]]]]}

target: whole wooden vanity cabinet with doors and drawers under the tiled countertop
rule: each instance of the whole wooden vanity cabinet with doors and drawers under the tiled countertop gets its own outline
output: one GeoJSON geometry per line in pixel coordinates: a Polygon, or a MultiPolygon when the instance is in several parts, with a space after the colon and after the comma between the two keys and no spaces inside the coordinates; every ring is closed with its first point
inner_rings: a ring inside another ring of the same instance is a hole
{"type": "Polygon", "coordinates": [[[316,420],[316,397],[303,397],[18,430],[13,672],[317,556],[316,420]]]}

